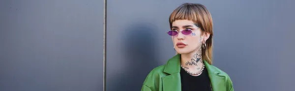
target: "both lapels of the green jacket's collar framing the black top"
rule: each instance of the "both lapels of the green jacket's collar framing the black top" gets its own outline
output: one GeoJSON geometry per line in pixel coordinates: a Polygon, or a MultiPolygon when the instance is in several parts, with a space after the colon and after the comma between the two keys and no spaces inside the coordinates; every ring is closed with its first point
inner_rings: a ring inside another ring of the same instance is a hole
{"type": "MultiPolygon", "coordinates": [[[[203,61],[205,67],[207,68],[208,75],[210,78],[210,83],[213,91],[226,91],[225,88],[225,75],[221,71],[203,61]]],[[[163,81],[163,91],[181,91],[181,81],[180,81],[180,54],[177,54],[171,58],[165,68],[164,72],[170,74],[162,78],[163,81]]]]}

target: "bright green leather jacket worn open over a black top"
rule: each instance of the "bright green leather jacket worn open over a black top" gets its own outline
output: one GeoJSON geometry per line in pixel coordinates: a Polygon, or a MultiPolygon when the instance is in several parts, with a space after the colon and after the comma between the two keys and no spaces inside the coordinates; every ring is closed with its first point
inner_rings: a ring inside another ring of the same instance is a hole
{"type": "MultiPolygon", "coordinates": [[[[167,64],[154,68],[148,74],[141,91],[181,91],[180,54],[169,59],[167,64]]],[[[212,91],[234,91],[229,75],[206,61],[205,67],[212,91]]]]}

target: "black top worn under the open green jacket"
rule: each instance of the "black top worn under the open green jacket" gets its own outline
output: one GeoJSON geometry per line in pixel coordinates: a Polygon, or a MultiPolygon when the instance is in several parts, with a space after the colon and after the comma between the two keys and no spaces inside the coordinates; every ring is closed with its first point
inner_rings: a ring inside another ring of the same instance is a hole
{"type": "Polygon", "coordinates": [[[199,76],[192,76],[180,68],[181,91],[211,91],[208,71],[204,68],[199,76]]]}

